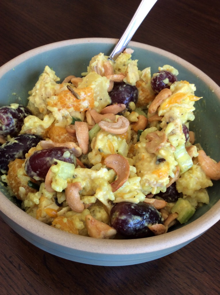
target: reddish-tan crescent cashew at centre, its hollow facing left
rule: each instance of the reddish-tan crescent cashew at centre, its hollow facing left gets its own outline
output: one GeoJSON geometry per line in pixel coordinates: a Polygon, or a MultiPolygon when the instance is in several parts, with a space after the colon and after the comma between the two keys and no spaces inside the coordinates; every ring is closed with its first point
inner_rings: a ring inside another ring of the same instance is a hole
{"type": "Polygon", "coordinates": [[[107,167],[112,168],[117,174],[116,180],[111,183],[112,191],[115,192],[128,180],[130,165],[128,160],[119,154],[107,156],[104,160],[104,164],[107,167]]]}

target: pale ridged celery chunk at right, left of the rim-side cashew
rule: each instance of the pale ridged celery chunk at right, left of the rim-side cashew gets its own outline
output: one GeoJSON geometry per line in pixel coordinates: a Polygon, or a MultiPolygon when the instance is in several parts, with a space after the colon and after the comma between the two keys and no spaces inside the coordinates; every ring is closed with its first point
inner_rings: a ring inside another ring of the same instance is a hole
{"type": "Polygon", "coordinates": [[[190,155],[186,151],[185,144],[178,145],[176,147],[176,150],[174,152],[174,157],[175,157],[175,160],[178,162],[178,166],[180,168],[181,173],[186,172],[193,165],[193,161],[190,155]]]}

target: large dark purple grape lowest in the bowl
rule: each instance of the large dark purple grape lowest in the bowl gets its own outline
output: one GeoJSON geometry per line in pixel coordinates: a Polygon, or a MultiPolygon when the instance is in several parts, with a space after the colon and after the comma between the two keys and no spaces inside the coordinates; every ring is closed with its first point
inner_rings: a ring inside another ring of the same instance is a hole
{"type": "Polygon", "coordinates": [[[110,212],[110,225],[127,238],[153,236],[148,226],[162,223],[158,210],[147,203],[121,202],[113,206],[110,212]]]}

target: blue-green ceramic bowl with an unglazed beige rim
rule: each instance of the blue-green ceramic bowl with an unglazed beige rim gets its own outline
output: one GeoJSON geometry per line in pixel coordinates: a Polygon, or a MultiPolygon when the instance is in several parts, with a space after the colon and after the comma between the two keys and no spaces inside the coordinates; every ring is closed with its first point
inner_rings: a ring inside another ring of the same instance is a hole
{"type": "MultiPolygon", "coordinates": [[[[28,91],[33,88],[45,65],[58,77],[72,73],[76,76],[87,70],[90,59],[103,52],[109,55],[117,40],[89,38],[67,40],[38,47],[19,55],[0,68],[0,105],[12,102],[27,104],[28,91]]],[[[139,69],[150,66],[152,73],[158,66],[169,64],[179,71],[178,79],[196,85],[196,119],[190,129],[196,132],[206,152],[220,160],[219,126],[220,88],[199,69],[185,60],[149,45],[130,42],[133,59],[138,59],[139,69]],[[213,115],[214,114],[214,115],[213,115]]],[[[3,185],[0,193],[0,214],[9,226],[33,245],[54,255],[81,263],[122,266],[154,260],[168,255],[202,235],[219,220],[220,181],[208,189],[210,204],[196,211],[190,221],[161,236],[133,240],[101,240],[69,234],[46,225],[17,207],[3,185]]]]}

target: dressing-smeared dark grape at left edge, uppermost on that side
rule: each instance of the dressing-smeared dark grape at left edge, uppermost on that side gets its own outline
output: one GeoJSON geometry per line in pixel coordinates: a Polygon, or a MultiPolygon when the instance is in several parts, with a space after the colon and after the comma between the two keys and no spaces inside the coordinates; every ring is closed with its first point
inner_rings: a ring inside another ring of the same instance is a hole
{"type": "Polygon", "coordinates": [[[31,115],[25,106],[2,106],[0,108],[0,134],[16,135],[21,131],[24,118],[31,115]]]}

